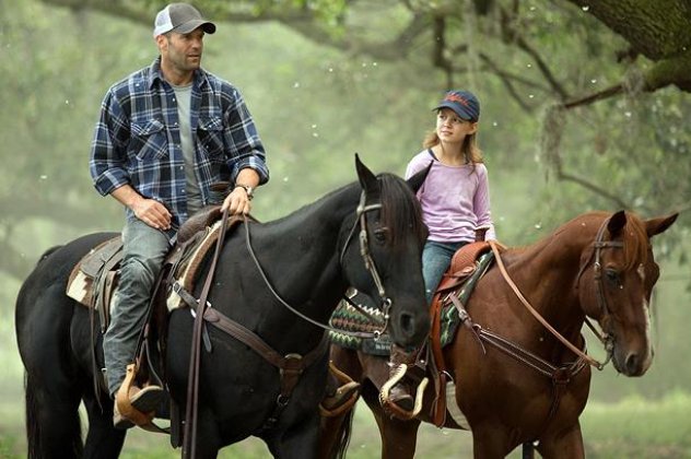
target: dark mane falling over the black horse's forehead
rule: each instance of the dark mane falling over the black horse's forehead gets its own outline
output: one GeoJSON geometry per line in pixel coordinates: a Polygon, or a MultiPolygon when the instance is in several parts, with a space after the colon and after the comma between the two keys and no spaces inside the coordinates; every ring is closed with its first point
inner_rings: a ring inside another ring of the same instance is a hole
{"type": "Polygon", "coordinates": [[[426,238],[428,228],[422,221],[420,202],[408,184],[400,177],[384,173],[377,175],[382,186],[382,223],[389,228],[390,244],[395,247],[400,235],[412,231],[420,240],[426,238]]]}

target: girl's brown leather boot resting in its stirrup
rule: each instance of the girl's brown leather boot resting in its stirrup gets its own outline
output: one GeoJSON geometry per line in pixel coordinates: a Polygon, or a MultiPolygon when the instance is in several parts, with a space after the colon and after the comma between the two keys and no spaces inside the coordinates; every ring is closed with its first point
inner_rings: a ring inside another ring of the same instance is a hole
{"type": "Polygon", "coordinates": [[[420,349],[406,351],[391,345],[389,379],[382,386],[379,401],[385,410],[399,419],[412,419],[421,409],[428,378],[424,377],[424,367],[417,365],[419,352],[420,349]]]}

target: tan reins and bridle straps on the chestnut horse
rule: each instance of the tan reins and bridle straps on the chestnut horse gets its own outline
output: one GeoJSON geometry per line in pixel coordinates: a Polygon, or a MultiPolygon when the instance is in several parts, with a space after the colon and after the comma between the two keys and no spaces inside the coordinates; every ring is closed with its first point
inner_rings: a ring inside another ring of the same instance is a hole
{"type": "MultiPolygon", "coordinates": [[[[596,283],[596,287],[597,287],[597,299],[598,299],[598,305],[600,306],[600,308],[606,313],[609,314],[609,308],[607,307],[607,299],[605,297],[605,292],[602,290],[602,283],[601,283],[601,264],[600,264],[600,250],[604,248],[622,248],[623,247],[623,243],[622,242],[613,242],[613,240],[602,240],[602,235],[605,232],[605,227],[607,225],[608,221],[605,221],[605,223],[602,223],[602,225],[600,226],[597,236],[595,238],[595,242],[593,244],[594,246],[594,254],[595,254],[595,264],[594,264],[594,269],[595,269],[595,283],[596,283]]],[[[530,305],[530,303],[526,299],[526,297],[523,295],[523,293],[520,293],[520,290],[518,289],[518,286],[516,286],[516,284],[514,283],[514,281],[511,279],[511,276],[508,275],[508,272],[506,271],[506,268],[504,267],[504,262],[501,258],[499,248],[496,247],[496,242],[494,240],[490,240],[490,247],[492,248],[492,252],[494,254],[494,258],[496,258],[496,264],[499,266],[499,269],[502,273],[502,275],[504,276],[504,280],[506,281],[506,283],[508,284],[508,286],[511,287],[511,290],[514,292],[514,294],[516,295],[516,297],[520,301],[520,303],[526,307],[526,309],[528,309],[528,311],[550,332],[552,333],[552,336],[554,336],[559,341],[562,342],[562,344],[564,344],[566,348],[569,348],[569,350],[571,350],[574,354],[576,354],[579,358],[583,358],[585,362],[587,362],[589,365],[596,367],[597,369],[602,369],[605,368],[605,366],[609,363],[609,361],[611,360],[612,356],[612,349],[613,349],[613,343],[612,343],[612,339],[611,337],[609,337],[608,334],[606,334],[605,337],[600,336],[600,333],[595,329],[595,327],[593,326],[593,323],[590,323],[590,321],[588,320],[588,318],[585,318],[585,322],[587,323],[587,326],[594,331],[594,333],[600,339],[600,341],[605,344],[605,350],[607,352],[607,358],[605,360],[605,362],[599,362],[595,358],[593,358],[592,356],[589,356],[588,354],[586,354],[585,352],[583,352],[582,350],[579,350],[578,348],[576,348],[571,341],[569,341],[567,339],[565,339],[559,331],[557,331],[536,309],[535,307],[532,307],[532,305],[530,305]]],[[[589,261],[589,259],[588,259],[589,261]]],[[[586,263],[581,268],[579,273],[578,273],[578,278],[581,276],[581,274],[583,273],[583,271],[585,270],[587,266],[587,261],[586,263]]]]}

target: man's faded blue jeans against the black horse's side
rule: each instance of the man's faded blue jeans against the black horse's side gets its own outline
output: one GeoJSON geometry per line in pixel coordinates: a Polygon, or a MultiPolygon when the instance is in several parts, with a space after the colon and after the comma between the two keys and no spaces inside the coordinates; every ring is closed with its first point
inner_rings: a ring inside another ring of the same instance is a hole
{"type": "Polygon", "coordinates": [[[151,290],[171,248],[168,236],[137,217],[122,229],[122,261],[110,307],[110,325],[103,340],[108,391],[120,388],[127,365],[134,362],[151,290]]]}

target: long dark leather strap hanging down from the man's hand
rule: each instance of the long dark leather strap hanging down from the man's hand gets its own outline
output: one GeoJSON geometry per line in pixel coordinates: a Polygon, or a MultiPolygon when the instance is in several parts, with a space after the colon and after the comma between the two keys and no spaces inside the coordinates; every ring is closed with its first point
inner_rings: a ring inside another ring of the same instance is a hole
{"type": "Polygon", "coordinates": [[[201,348],[201,333],[203,327],[203,313],[207,308],[207,297],[211,290],[211,282],[213,281],[213,274],[215,272],[216,262],[221,256],[221,248],[225,240],[225,226],[227,224],[227,209],[223,211],[221,215],[221,228],[219,238],[216,240],[213,258],[211,259],[211,266],[207,273],[207,280],[201,290],[201,295],[197,303],[197,316],[195,317],[195,325],[192,329],[192,342],[189,360],[189,374],[187,377],[187,402],[185,405],[185,433],[183,438],[183,458],[195,458],[195,446],[197,444],[197,401],[199,400],[199,364],[200,364],[200,348],[201,348]]]}

